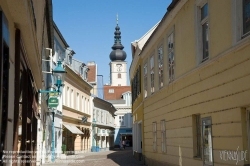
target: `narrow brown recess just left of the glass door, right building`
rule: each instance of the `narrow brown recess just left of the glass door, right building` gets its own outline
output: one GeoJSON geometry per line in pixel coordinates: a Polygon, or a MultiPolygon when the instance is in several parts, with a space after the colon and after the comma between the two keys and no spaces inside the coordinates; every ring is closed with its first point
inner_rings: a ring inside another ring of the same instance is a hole
{"type": "Polygon", "coordinates": [[[193,147],[194,157],[201,158],[201,123],[200,115],[193,115],[193,147]]]}

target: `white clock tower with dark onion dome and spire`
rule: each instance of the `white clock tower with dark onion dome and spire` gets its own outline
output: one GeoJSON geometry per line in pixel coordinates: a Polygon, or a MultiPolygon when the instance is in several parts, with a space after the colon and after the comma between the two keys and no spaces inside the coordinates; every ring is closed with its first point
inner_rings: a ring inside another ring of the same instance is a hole
{"type": "Polygon", "coordinates": [[[110,53],[110,83],[111,86],[127,86],[127,62],[125,61],[127,54],[123,51],[121,44],[121,32],[118,26],[118,16],[115,27],[115,42],[110,53]]]}

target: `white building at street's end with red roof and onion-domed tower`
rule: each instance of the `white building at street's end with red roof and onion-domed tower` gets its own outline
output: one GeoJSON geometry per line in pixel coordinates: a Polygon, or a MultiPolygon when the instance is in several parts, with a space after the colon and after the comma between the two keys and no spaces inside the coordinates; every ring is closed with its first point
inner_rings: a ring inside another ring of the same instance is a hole
{"type": "Polygon", "coordinates": [[[104,99],[112,103],[115,108],[115,145],[120,140],[127,140],[132,146],[132,114],[131,87],[127,86],[127,55],[121,44],[121,32],[118,22],[115,28],[113,51],[110,53],[111,85],[104,86],[104,99]]]}

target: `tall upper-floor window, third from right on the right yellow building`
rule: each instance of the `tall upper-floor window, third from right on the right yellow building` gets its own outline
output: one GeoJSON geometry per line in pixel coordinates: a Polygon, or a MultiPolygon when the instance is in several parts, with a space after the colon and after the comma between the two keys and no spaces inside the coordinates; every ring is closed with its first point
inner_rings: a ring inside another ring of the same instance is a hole
{"type": "Polygon", "coordinates": [[[169,82],[174,80],[174,33],[168,36],[168,71],[169,71],[169,82]]]}

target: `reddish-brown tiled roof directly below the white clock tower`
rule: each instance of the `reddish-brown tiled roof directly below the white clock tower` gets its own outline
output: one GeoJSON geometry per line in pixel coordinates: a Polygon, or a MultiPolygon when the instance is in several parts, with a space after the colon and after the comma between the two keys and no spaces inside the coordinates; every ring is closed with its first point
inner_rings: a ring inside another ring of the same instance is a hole
{"type": "Polygon", "coordinates": [[[104,86],[104,99],[105,100],[121,100],[124,92],[130,91],[131,86],[104,86]]]}

